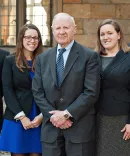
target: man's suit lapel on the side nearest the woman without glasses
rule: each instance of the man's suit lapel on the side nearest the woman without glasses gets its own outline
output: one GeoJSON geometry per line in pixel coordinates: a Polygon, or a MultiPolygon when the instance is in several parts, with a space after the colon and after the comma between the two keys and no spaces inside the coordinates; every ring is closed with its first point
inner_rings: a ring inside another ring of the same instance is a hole
{"type": "MultiPolygon", "coordinates": [[[[74,44],[70,50],[66,65],[65,65],[63,81],[66,78],[66,76],[68,75],[69,71],[71,70],[72,66],[74,65],[74,63],[78,57],[79,57],[78,44],[76,42],[74,42],[74,44]]],[[[63,83],[63,81],[62,81],[62,83],[63,83]]]]}

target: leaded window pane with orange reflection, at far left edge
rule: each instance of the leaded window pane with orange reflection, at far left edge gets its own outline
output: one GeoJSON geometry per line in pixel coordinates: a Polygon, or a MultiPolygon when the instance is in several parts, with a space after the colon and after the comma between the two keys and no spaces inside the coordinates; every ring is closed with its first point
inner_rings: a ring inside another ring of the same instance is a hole
{"type": "Polygon", "coordinates": [[[16,0],[0,0],[0,46],[16,44],[16,0]]]}

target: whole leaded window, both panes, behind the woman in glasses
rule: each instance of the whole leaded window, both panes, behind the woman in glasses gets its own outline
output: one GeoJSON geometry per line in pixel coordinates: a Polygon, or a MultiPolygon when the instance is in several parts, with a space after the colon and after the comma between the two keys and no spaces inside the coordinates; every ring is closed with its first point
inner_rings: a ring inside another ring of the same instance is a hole
{"type": "Polygon", "coordinates": [[[19,31],[19,23],[21,24],[21,19],[18,18],[16,14],[22,14],[20,17],[25,16],[26,18],[21,25],[25,23],[35,24],[41,32],[43,45],[51,46],[51,0],[20,0],[20,2],[21,1],[23,5],[20,7],[23,11],[16,8],[16,3],[19,3],[18,0],[0,0],[0,46],[16,45],[16,32],[19,31]]]}

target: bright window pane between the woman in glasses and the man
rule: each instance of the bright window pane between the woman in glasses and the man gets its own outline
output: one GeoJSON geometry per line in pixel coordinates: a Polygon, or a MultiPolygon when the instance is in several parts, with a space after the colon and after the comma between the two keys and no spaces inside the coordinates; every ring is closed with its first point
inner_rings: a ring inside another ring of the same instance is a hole
{"type": "Polygon", "coordinates": [[[42,35],[44,46],[50,46],[50,0],[26,0],[27,23],[35,24],[42,35]]]}

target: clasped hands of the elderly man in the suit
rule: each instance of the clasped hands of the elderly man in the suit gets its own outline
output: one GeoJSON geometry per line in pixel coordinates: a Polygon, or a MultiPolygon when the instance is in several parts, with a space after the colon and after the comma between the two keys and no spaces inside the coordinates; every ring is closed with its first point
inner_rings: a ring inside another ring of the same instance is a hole
{"type": "Polygon", "coordinates": [[[49,113],[52,114],[50,122],[52,122],[55,127],[66,129],[72,126],[72,122],[69,119],[65,119],[64,111],[54,110],[49,113]]]}

